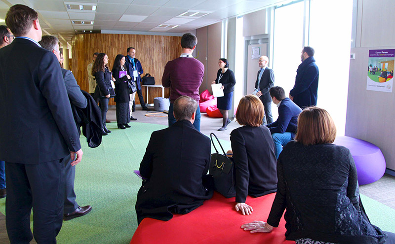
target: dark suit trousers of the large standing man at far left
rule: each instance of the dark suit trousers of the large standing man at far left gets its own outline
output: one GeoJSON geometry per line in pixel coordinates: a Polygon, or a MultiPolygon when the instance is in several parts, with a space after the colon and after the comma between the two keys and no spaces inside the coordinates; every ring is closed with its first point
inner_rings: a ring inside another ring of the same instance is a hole
{"type": "Polygon", "coordinates": [[[11,244],[56,244],[63,221],[64,159],[41,164],[5,162],[5,225],[11,244]],[[34,233],[30,230],[33,208],[34,233]]]}

